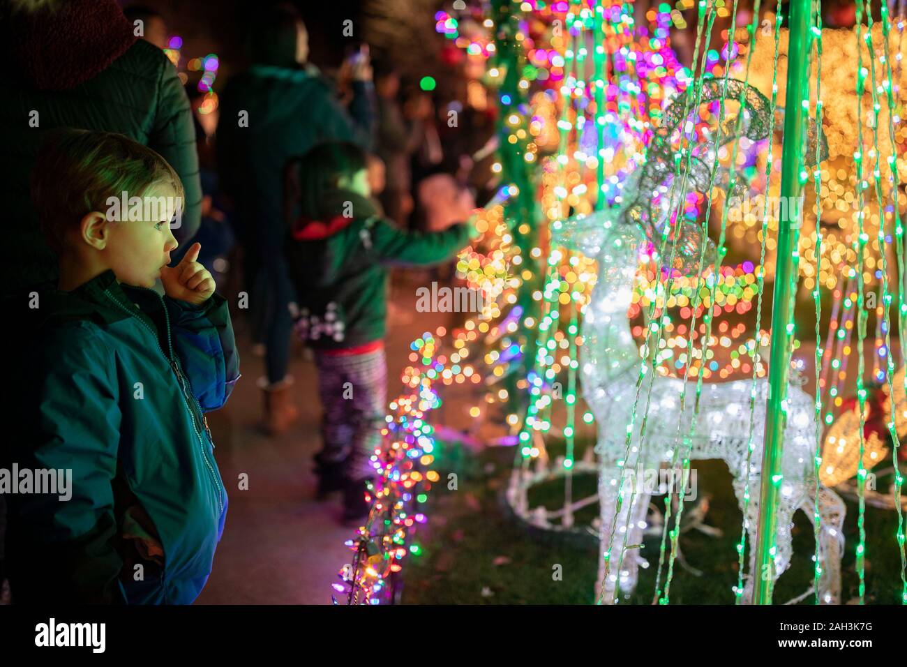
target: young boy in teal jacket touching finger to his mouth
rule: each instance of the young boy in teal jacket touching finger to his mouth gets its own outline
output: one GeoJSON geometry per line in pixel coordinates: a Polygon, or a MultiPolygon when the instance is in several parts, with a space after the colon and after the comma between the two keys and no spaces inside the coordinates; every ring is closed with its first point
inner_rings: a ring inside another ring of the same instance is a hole
{"type": "Polygon", "coordinates": [[[208,580],[227,494],[204,413],[239,357],[200,244],[168,266],[182,194],[120,134],[54,131],[38,153],[32,198],[60,280],[30,297],[15,460],[72,481],[66,500],[8,496],[14,602],[191,603],[208,580]]]}

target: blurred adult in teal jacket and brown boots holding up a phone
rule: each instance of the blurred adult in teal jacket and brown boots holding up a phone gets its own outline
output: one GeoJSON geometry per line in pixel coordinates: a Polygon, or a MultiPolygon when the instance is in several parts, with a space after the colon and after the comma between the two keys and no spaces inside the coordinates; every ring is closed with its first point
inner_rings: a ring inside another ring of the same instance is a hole
{"type": "Polygon", "coordinates": [[[231,77],[221,95],[218,164],[220,187],[235,206],[253,321],[255,310],[263,311],[262,427],[276,436],[298,418],[288,375],[293,286],[283,253],[283,168],[321,140],[367,147],[374,91],[367,50],[360,49],[349,64],[355,94],[347,112],[334,86],[308,63],[306,25],[292,5],[262,10],[250,27],[253,65],[231,77]]]}

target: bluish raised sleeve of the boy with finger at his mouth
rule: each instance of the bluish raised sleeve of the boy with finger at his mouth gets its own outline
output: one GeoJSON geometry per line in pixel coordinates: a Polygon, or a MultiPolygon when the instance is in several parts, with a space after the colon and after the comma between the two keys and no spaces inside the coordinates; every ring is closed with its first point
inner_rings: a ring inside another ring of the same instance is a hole
{"type": "Polygon", "coordinates": [[[227,299],[213,294],[200,305],[164,297],[173,348],[205,412],[227,402],[239,379],[239,353],[227,299]]]}

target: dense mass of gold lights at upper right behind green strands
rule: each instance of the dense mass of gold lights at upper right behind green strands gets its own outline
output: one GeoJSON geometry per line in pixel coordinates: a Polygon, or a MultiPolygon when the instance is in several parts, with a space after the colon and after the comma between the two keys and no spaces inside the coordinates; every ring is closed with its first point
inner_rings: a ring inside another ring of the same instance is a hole
{"type": "MultiPolygon", "coordinates": [[[[863,33],[868,31],[863,28],[863,33]]],[[[771,54],[774,51],[774,36],[772,34],[762,34],[763,31],[756,31],[756,52],[771,54]]],[[[892,153],[892,142],[889,135],[888,124],[890,115],[888,113],[888,103],[885,88],[887,76],[884,66],[883,54],[883,34],[882,27],[879,24],[873,25],[872,30],[873,49],[875,51],[875,81],[873,83],[870,73],[871,54],[868,51],[867,44],[863,41],[863,67],[866,70],[866,90],[863,94],[861,103],[860,122],[862,123],[863,134],[863,180],[868,182],[869,187],[864,193],[863,210],[863,231],[869,236],[867,251],[865,257],[865,270],[863,280],[868,286],[875,285],[878,280],[876,271],[882,270],[882,257],[878,241],[878,232],[880,225],[884,221],[884,226],[889,234],[892,234],[894,228],[894,215],[892,211],[894,193],[890,183],[892,177],[889,159],[894,156],[894,163],[897,166],[899,181],[907,181],[907,160],[904,159],[905,146],[907,141],[907,128],[901,121],[901,118],[895,115],[892,119],[894,128],[895,145],[892,153]],[[875,124],[875,113],[873,112],[873,97],[870,87],[875,85],[877,98],[879,100],[879,121],[877,131],[877,141],[879,146],[879,155],[876,156],[873,136],[873,125],[875,124]],[[879,175],[883,183],[883,207],[880,207],[876,200],[875,189],[873,186],[876,158],[879,162],[879,175]],[[883,208],[888,211],[883,212],[883,208]]],[[[738,31],[737,38],[746,40],[745,31],[738,31]]],[[[778,87],[777,103],[779,107],[785,104],[785,82],[787,70],[787,40],[788,35],[785,29],[782,29],[779,39],[779,59],[778,71],[775,75],[772,69],[771,57],[754,57],[752,60],[749,83],[758,88],[766,97],[772,93],[773,81],[778,87]]],[[[822,33],[823,55],[822,55],[822,79],[821,79],[821,100],[823,123],[822,129],[828,142],[827,160],[820,164],[821,191],[819,192],[819,207],[816,208],[815,197],[812,188],[806,187],[804,229],[801,230],[799,255],[800,255],[800,273],[803,277],[803,287],[805,290],[812,290],[818,280],[820,287],[823,289],[834,289],[842,280],[850,275],[850,267],[856,265],[856,255],[853,250],[855,245],[855,235],[857,229],[857,196],[856,192],[856,162],[854,152],[857,150],[857,101],[856,101],[856,81],[857,81],[857,35],[853,29],[824,29],[822,33]],[[820,231],[823,235],[822,252],[820,264],[815,266],[815,242],[816,242],[816,221],[819,221],[820,231]]],[[[892,58],[892,77],[894,77],[894,89],[897,95],[895,100],[896,113],[902,113],[904,103],[907,102],[907,72],[903,71],[900,62],[898,44],[898,33],[892,31],[889,41],[889,53],[892,58]]],[[[743,59],[731,67],[731,75],[743,78],[745,75],[743,59]]],[[[816,84],[816,67],[811,70],[811,94],[815,96],[816,84]]],[[[814,116],[815,103],[810,113],[814,116]]],[[[757,163],[759,172],[754,181],[755,190],[768,191],[773,197],[776,197],[780,190],[778,181],[780,174],[781,162],[781,136],[780,132],[775,133],[775,142],[773,149],[773,162],[775,162],[773,178],[771,183],[766,187],[765,180],[765,159],[761,156],[757,163]]],[[[813,182],[813,174],[809,174],[808,183],[813,182]]],[[[907,195],[903,189],[898,193],[899,208],[902,211],[902,220],[904,211],[907,211],[907,195]]],[[[728,240],[730,245],[741,250],[761,242],[762,240],[762,212],[758,207],[753,207],[755,212],[744,211],[738,212],[735,219],[729,216],[728,222],[728,240]]],[[[770,209],[771,211],[771,209],[770,209]]],[[[766,267],[774,265],[775,241],[771,237],[777,231],[777,220],[775,215],[768,217],[769,239],[766,241],[766,267]]],[[[892,240],[887,242],[890,244],[892,240]]],[[[889,275],[892,276],[893,256],[889,257],[889,275]]],[[[766,276],[771,279],[772,276],[766,276]]]]}

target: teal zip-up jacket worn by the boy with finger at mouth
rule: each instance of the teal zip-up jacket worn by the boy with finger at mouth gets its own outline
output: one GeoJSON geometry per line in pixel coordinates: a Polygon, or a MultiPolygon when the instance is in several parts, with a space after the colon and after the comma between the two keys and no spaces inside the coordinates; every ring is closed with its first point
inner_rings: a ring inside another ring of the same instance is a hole
{"type": "Polygon", "coordinates": [[[227,512],[203,414],[239,378],[227,303],[215,294],[193,306],[121,285],[112,271],[39,299],[16,462],[71,468],[72,498],[7,496],[14,601],[191,603],[227,512]],[[121,536],[136,503],[162,567],[121,536]]]}

